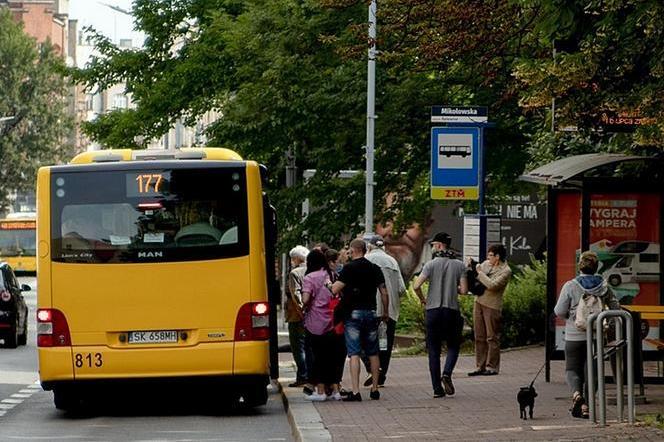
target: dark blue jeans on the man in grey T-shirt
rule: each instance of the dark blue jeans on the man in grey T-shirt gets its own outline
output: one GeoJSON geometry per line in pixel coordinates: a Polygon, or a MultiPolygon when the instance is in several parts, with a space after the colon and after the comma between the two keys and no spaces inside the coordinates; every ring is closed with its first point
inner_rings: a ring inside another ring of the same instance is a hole
{"type": "Polygon", "coordinates": [[[440,390],[440,347],[447,343],[447,357],[443,374],[452,376],[461,347],[463,319],[461,312],[439,307],[426,312],[427,350],[429,352],[429,373],[434,390],[440,390]]]}

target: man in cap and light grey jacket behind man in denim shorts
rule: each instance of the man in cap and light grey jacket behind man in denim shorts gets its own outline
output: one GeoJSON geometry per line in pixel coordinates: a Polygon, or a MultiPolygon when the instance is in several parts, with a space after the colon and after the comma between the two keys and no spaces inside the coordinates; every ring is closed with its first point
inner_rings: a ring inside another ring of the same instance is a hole
{"type": "MultiPolygon", "coordinates": [[[[389,307],[387,320],[387,349],[380,350],[378,357],[380,359],[380,374],[378,375],[378,385],[385,384],[387,377],[387,369],[390,365],[390,358],[392,357],[392,347],[394,346],[394,334],[397,328],[397,321],[399,320],[399,306],[401,304],[401,296],[406,293],[406,284],[401,276],[399,263],[396,259],[391,257],[385,252],[385,241],[380,235],[369,235],[364,238],[367,241],[368,253],[365,255],[367,260],[380,267],[385,278],[385,288],[389,297],[389,307]]],[[[383,303],[380,298],[381,294],[376,291],[376,315],[383,316],[383,303]]],[[[363,355],[362,360],[367,369],[367,373],[371,373],[371,365],[369,358],[363,355]]],[[[364,381],[364,386],[368,387],[373,383],[373,376],[369,374],[364,381]]]]}

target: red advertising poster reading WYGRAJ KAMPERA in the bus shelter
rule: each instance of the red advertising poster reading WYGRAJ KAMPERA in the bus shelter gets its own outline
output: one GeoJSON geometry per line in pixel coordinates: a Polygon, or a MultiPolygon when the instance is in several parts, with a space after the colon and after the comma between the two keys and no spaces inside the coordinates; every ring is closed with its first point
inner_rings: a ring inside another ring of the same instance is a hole
{"type": "MultiPolygon", "coordinates": [[[[592,194],[590,250],[600,259],[598,273],[622,305],[660,305],[660,196],[642,193],[592,194]]],[[[577,274],[581,253],[581,194],[557,200],[556,287],[577,274]]],[[[556,295],[557,296],[557,295],[556,295]]],[[[649,321],[643,350],[655,350],[658,321],[649,321]]],[[[556,319],[556,350],[564,349],[564,322],[556,319]]]]}

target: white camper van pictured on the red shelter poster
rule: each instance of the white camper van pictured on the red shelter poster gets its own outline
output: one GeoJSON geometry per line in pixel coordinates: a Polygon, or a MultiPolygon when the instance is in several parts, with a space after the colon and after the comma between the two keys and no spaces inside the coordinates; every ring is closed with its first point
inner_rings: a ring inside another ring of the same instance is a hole
{"type": "Polygon", "coordinates": [[[611,251],[620,256],[603,274],[614,287],[625,282],[659,281],[659,244],[625,241],[611,251]]]}

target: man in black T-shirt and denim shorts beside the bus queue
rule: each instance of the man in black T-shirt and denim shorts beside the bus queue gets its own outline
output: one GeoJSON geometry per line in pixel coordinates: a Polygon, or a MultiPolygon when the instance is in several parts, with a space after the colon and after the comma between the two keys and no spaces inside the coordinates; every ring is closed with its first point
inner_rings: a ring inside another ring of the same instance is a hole
{"type": "Polygon", "coordinates": [[[380,399],[378,376],[380,361],[378,358],[378,323],[376,315],[376,289],[380,291],[382,316],[388,318],[389,298],[385,288],[385,279],[380,268],[364,257],[366,243],[354,239],[350,243],[351,261],[339,273],[339,279],[330,286],[332,293],[339,294],[343,290],[342,303],[349,311],[344,321],[346,350],[350,356],[350,375],[352,393],[344,401],[361,401],[360,395],[360,355],[367,355],[371,364],[373,383],[369,397],[380,399]]]}

